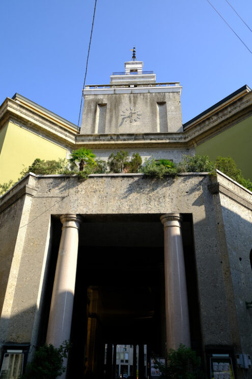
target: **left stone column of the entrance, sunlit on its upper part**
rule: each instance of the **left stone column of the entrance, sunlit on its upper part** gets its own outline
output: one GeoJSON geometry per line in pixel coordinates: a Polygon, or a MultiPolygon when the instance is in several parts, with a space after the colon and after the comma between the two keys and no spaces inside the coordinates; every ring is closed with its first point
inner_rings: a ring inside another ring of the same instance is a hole
{"type": "MultiPolygon", "coordinates": [[[[70,339],[81,217],[66,214],[61,216],[61,222],[62,235],[46,336],[46,343],[55,347],[70,339]]],[[[65,374],[61,377],[65,377],[65,374]]]]}

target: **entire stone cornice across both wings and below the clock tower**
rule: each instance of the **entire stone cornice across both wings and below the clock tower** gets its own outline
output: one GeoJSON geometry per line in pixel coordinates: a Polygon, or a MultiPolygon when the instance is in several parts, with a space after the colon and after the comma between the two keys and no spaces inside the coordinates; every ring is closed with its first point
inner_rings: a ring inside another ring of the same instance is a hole
{"type": "Polygon", "coordinates": [[[252,91],[239,92],[211,109],[200,118],[187,123],[182,133],[139,133],[139,134],[92,134],[80,135],[73,124],[57,119],[56,115],[36,107],[33,102],[19,97],[8,98],[0,107],[0,129],[7,121],[13,121],[51,141],[72,149],[80,146],[89,148],[139,148],[169,147],[188,149],[229,129],[252,116],[252,91]],[[31,103],[31,104],[30,104],[31,103]]]}

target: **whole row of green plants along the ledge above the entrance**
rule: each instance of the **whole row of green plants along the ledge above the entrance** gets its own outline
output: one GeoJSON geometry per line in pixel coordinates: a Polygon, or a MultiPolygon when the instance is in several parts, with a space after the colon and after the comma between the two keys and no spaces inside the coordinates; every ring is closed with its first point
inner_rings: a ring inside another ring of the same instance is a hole
{"type": "MultiPolygon", "coordinates": [[[[154,160],[153,157],[151,157],[142,165],[142,158],[138,153],[134,153],[129,160],[128,151],[121,150],[116,154],[111,153],[106,163],[100,159],[95,160],[95,154],[92,150],[80,147],[72,151],[69,160],[59,159],[55,161],[37,158],[31,166],[24,168],[20,174],[21,178],[29,172],[33,172],[37,175],[77,174],[78,178],[83,181],[88,179],[88,176],[93,173],[143,172],[147,176],[162,179],[165,175],[176,176],[177,173],[181,172],[209,172],[210,175],[216,175],[215,169],[220,170],[243,187],[252,191],[252,182],[243,177],[241,170],[230,157],[217,157],[215,162],[212,162],[208,156],[185,155],[182,162],[178,164],[167,159],[154,160]],[[108,171],[107,166],[109,168],[108,171]]],[[[0,185],[0,195],[8,191],[13,184],[14,182],[10,181],[9,183],[0,185]]]]}

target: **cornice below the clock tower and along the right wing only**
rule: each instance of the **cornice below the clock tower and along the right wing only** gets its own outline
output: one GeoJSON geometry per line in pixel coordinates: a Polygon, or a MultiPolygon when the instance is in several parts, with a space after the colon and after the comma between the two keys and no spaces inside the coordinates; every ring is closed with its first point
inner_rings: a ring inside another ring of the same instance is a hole
{"type": "Polygon", "coordinates": [[[90,148],[191,148],[252,115],[252,91],[243,91],[187,126],[182,133],[77,135],[76,145],[90,148]]]}

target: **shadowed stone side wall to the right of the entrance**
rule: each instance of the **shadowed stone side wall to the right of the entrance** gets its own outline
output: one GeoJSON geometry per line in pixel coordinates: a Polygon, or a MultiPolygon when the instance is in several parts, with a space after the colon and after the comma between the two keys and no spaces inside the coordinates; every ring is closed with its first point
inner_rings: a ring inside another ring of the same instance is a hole
{"type": "Polygon", "coordinates": [[[206,218],[193,223],[203,343],[251,353],[252,312],[245,301],[252,293],[252,223],[247,209],[242,215],[234,201],[229,209],[213,196],[213,203],[204,201],[206,218]]]}

